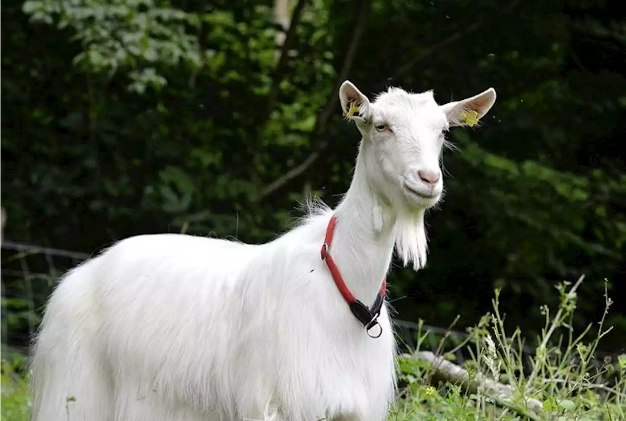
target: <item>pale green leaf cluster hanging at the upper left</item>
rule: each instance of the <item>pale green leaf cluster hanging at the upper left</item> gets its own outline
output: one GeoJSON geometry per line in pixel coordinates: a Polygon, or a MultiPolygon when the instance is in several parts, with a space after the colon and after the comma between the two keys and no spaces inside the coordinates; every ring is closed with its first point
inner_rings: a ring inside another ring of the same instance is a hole
{"type": "MultiPolygon", "coordinates": [[[[197,71],[215,53],[202,51],[187,27],[199,28],[202,17],[152,0],[69,1],[28,0],[22,10],[34,23],[70,28],[83,48],[73,63],[83,71],[128,72],[131,90],[162,88],[167,80],[153,66],[178,66],[197,71]]],[[[213,20],[215,21],[215,20],[213,20]]]]}

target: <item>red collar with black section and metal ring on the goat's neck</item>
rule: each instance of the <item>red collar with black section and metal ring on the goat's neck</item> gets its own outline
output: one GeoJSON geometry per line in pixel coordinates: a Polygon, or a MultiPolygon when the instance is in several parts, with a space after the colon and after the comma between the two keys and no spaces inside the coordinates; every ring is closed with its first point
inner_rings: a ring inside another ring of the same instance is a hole
{"type": "MultiPolygon", "coordinates": [[[[382,278],[381,290],[378,292],[376,296],[376,301],[372,305],[372,308],[367,308],[367,306],[358,299],[354,298],[354,295],[348,289],[346,283],[344,282],[344,278],[342,278],[341,273],[339,272],[339,268],[335,264],[335,261],[332,259],[332,256],[329,254],[329,249],[331,248],[332,236],[335,233],[335,225],[337,224],[337,217],[332,216],[331,221],[328,223],[328,227],[326,228],[326,239],[324,240],[324,244],[322,245],[322,260],[326,261],[326,265],[331,271],[332,279],[335,281],[339,292],[344,297],[348,305],[350,306],[350,311],[352,314],[363,323],[367,330],[367,334],[369,335],[369,330],[374,326],[378,325],[378,316],[381,314],[382,303],[384,301],[384,296],[387,293],[387,278],[382,278]]],[[[380,327],[380,325],[379,325],[380,327]]],[[[372,336],[372,338],[378,338],[381,336],[382,328],[379,331],[377,336],[372,336]]]]}

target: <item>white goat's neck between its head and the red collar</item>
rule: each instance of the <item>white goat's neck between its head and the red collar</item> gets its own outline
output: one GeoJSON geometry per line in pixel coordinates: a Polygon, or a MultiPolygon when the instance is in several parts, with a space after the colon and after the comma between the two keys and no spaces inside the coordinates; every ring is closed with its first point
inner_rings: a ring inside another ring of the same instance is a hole
{"type": "Polygon", "coordinates": [[[372,189],[363,155],[361,145],[352,183],[335,211],[330,252],[352,294],[371,306],[391,263],[396,217],[372,189]]]}

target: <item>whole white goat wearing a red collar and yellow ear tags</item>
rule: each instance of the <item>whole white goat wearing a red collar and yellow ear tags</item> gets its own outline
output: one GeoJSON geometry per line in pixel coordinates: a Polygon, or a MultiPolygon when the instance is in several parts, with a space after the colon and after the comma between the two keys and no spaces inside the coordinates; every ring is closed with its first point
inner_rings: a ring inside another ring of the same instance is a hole
{"type": "Polygon", "coordinates": [[[387,417],[394,244],[405,265],[424,266],[444,133],[474,125],[496,93],[439,106],[432,91],[390,88],[370,103],[345,81],[339,98],[362,141],[336,209],[312,204],[262,245],[131,237],[64,276],[34,346],[34,421],[387,417]]]}

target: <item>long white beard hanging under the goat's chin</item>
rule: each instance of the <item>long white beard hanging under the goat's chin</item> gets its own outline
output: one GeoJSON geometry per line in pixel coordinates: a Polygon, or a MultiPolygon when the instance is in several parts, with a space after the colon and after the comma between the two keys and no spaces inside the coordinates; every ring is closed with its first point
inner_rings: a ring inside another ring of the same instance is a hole
{"type": "Polygon", "coordinates": [[[404,266],[413,270],[426,266],[426,227],[424,227],[424,207],[414,205],[399,206],[396,209],[396,252],[404,266]]]}

